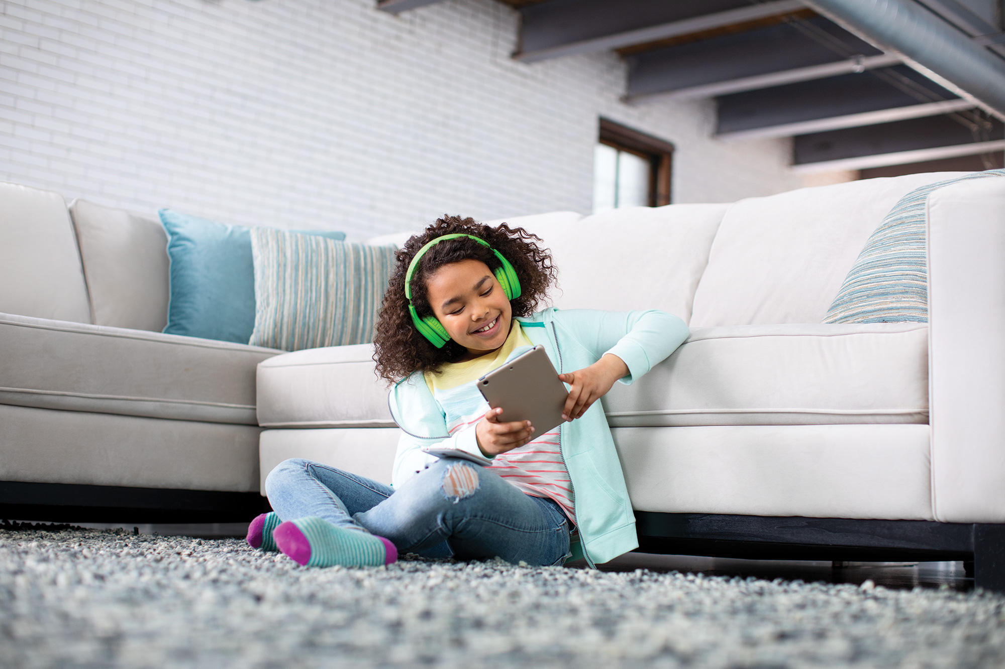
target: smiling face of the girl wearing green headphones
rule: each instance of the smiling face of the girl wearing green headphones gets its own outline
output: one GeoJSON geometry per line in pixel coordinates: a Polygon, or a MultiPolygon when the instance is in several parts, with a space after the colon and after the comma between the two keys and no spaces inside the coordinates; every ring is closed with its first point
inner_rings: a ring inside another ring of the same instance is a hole
{"type": "Polygon", "coordinates": [[[480,260],[443,265],[426,279],[426,295],[450,339],[467,349],[464,360],[495,351],[510,336],[510,300],[480,260]]]}

